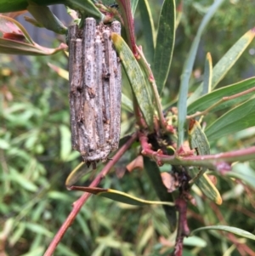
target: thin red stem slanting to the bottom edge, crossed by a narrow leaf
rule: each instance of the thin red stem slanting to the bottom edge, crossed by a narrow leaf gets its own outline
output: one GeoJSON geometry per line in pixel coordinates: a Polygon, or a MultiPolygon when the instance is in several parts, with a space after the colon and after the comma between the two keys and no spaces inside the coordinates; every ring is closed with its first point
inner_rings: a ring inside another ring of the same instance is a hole
{"type": "MultiPolygon", "coordinates": [[[[105,175],[109,173],[111,168],[116,164],[116,162],[121,158],[121,156],[127,151],[127,149],[133,144],[133,142],[137,139],[137,133],[133,134],[127,142],[122,145],[119,151],[116,152],[116,155],[112,157],[112,160],[109,161],[105,168],[97,175],[94,181],[89,185],[89,187],[95,187],[99,185],[101,179],[104,179],[105,175]]],[[[50,243],[47,251],[43,254],[43,256],[51,256],[54,253],[54,250],[58,246],[61,238],[65,235],[66,230],[71,226],[72,222],[76,218],[77,214],[80,212],[82,205],[88,200],[88,197],[91,194],[84,193],[76,202],[73,203],[73,208],[69,216],[65,219],[65,222],[60,227],[58,233],[54,236],[53,241],[50,243]]]]}

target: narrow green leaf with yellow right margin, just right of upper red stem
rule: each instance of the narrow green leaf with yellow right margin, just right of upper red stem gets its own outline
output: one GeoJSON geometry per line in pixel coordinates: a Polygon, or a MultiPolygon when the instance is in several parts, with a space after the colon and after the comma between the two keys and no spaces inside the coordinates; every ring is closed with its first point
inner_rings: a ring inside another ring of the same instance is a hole
{"type": "Polygon", "coordinates": [[[139,11],[144,35],[144,56],[149,63],[152,63],[155,48],[155,28],[150,11],[148,0],[139,0],[139,11]]]}

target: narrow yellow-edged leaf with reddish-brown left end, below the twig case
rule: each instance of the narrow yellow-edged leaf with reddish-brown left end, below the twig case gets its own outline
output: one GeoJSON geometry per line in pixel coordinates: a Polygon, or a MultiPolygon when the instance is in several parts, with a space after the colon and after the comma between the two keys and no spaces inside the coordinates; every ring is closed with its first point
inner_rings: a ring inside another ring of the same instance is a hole
{"type": "Polygon", "coordinates": [[[127,193],[122,191],[115,191],[111,189],[101,189],[101,188],[93,188],[93,187],[82,187],[82,186],[71,186],[71,191],[84,191],[98,196],[104,196],[110,198],[111,200],[117,202],[124,202],[131,205],[144,206],[149,204],[159,204],[159,205],[167,205],[174,206],[173,202],[161,202],[161,201],[147,201],[140,199],[135,196],[130,196],[127,193]]]}

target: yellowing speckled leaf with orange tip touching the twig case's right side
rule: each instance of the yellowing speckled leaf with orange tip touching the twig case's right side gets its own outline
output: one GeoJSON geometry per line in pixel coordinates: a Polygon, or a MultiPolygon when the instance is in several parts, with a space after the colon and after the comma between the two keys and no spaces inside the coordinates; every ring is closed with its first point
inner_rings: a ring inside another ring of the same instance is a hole
{"type": "Polygon", "coordinates": [[[144,119],[148,126],[153,126],[154,107],[150,98],[150,88],[144,80],[143,71],[141,71],[137,60],[127,46],[127,43],[116,33],[111,33],[112,41],[116,47],[116,51],[122,60],[122,65],[127,73],[128,80],[133,88],[139,107],[144,115],[144,119]]]}

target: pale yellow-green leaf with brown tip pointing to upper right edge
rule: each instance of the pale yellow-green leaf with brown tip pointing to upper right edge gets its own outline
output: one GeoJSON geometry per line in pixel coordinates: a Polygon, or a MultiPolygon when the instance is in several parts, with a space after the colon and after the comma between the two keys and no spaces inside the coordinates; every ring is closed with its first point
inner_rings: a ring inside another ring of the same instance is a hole
{"type": "MultiPolygon", "coordinates": [[[[218,61],[218,63],[212,69],[212,88],[218,85],[229,69],[240,58],[241,54],[245,51],[248,45],[252,42],[255,36],[255,28],[247,31],[231,48],[224,54],[224,56],[218,61]]],[[[201,95],[201,85],[195,90],[188,100],[188,105],[193,103],[201,95]]]]}

